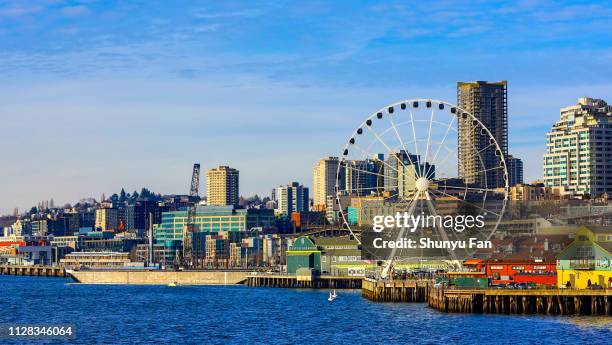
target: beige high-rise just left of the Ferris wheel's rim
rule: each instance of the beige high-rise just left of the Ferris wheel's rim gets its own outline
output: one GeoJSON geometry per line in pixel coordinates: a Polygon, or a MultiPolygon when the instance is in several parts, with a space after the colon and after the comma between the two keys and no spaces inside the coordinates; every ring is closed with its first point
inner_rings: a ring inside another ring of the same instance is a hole
{"type": "MultiPolygon", "coordinates": [[[[313,177],[313,201],[314,210],[324,211],[327,205],[327,197],[335,196],[336,176],[338,173],[338,157],[326,157],[320,159],[312,171],[313,177]]],[[[340,171],[338,186],[345,185],[344,170],[340,171]]]]}

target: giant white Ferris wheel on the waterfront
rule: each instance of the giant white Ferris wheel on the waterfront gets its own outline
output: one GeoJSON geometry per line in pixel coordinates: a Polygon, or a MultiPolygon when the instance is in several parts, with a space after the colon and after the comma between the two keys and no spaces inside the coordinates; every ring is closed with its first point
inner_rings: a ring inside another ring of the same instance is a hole
{"type": "Polygon", "coordinates": [[[367,117],[341,151],[335,186],[338,221],[367,247],[365,234],[376,217],[399,213],[434,219],[418,229],[392,226],[390,239],[427,237],[434,248],[387,251],[387,268],[424,257],[465,259],[478,248],[449,250],[437,248],[435,241],[480,243],[491,238],[508,199],[505,155],[487,126],[456,105],[433,99],[388,105],[367,117]],[[435,221],[466,214],[481,216],[484,225],[449,231],[435,221]]]}

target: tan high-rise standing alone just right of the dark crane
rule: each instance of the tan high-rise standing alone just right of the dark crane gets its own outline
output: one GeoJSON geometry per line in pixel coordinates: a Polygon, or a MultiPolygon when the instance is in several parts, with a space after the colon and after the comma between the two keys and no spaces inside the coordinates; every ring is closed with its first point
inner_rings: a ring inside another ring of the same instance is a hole
{"type": "Polygon", "coordinates": [[[238,170],[227,166],[213,168],[206,172],[206,180],[209,205],[238,205],[238,170]]]}

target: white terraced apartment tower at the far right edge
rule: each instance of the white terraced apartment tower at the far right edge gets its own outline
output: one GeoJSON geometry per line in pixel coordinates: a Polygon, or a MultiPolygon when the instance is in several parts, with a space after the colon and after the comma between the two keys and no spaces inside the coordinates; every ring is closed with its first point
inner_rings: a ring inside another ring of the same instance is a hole
{"type": "Polygon", "coordinates": [[[612,106],[580,98],[546,134],[544,184],[577,195],[612,192],[612,106]]]}

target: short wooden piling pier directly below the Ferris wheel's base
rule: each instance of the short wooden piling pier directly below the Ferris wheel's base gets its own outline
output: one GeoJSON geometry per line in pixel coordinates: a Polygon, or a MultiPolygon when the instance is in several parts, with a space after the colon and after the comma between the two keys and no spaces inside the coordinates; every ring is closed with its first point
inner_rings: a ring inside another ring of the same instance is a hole
{"type": "Polygon", "coordinates": [[[376,302],[427,302],[431,280],[378,281],[365,278],[362,283],[363,297],[376,302]]]}

